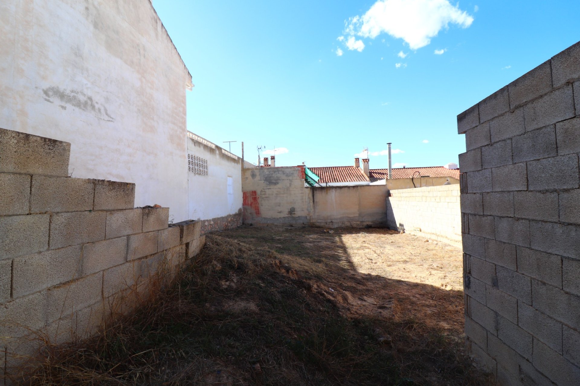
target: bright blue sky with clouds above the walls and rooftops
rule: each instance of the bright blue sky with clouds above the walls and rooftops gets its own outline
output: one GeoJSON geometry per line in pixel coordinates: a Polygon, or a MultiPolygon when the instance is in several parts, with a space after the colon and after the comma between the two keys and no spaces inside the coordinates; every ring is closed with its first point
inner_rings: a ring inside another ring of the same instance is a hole
{"type": "Polygon", "coordinates": [[[387,142],[397,166],[457,162],[459,113],[580,40],[580,1],[153,5],[193,76],[188,130],[253,163],[278,148],[278,166],[366,147],[383,168],[387,142]]]}

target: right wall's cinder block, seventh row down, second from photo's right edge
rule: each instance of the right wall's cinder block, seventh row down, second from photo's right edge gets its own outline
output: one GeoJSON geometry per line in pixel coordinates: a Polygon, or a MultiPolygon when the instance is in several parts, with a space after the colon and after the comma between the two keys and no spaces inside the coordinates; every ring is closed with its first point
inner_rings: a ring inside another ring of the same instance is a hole
{"type": "Polygon", "coordinates": [[[560,256],[517,247],[517,271],[562,288],[562,259],[560,256]]]}

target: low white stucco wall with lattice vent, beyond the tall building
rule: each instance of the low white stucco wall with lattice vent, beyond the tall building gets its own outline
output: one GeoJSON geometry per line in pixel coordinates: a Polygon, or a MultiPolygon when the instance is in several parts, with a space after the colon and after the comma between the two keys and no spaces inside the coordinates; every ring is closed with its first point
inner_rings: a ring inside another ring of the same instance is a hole
{"type": "Polygon", "coordinates": [[[187,172],[189,218],[208,220],[238,213],[242,208],[240,157],[191,133],[187,137],[187,153],[207,160],[207,174],[187,172]],[[231,177],[231,194],[228,194],[228,177],[231,177]]]}

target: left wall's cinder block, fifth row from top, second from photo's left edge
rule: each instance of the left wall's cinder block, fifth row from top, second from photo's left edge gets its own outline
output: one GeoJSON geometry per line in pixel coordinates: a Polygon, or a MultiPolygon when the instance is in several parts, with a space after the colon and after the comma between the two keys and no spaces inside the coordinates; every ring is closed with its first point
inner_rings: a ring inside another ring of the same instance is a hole
{"type": "Polygon", "coordinates": [[[46,321],[74,315],[102,299],[103,274],[96,273],[50,288],[46,296],[46,321]]]}

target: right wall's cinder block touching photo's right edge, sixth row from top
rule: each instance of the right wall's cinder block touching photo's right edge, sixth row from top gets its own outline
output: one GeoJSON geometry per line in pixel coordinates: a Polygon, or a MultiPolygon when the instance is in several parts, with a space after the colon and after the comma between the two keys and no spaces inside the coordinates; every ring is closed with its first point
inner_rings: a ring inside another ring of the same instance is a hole
{"type": "Polygon", "coordinates": [[[531,248],[578,259],[580,227],[552,222],[530,222],[531,248]]]}

